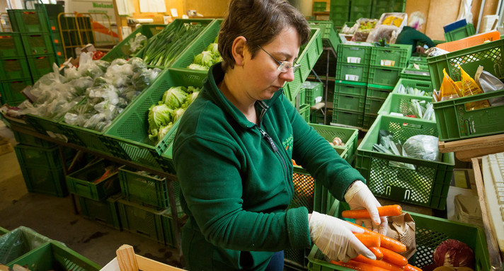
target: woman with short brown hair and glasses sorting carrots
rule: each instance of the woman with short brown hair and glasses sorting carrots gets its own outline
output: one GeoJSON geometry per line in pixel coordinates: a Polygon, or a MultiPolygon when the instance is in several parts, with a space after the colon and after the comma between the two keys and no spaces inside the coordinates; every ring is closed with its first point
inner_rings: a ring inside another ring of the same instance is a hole
{"type": "Polygon", "coordinates": [[[312,242],[333,260],[374,258],[353,236],[362,229],[306,207],[286,210],[294,159],[339,200],[368,209],[377,229],[386,224],[362,175],[282,95],[310,33],[287,1],[231,0],[219,32],[223,62],[208,71],[173,144],[189,270],[283,270],[283,250],[312,242]]]}

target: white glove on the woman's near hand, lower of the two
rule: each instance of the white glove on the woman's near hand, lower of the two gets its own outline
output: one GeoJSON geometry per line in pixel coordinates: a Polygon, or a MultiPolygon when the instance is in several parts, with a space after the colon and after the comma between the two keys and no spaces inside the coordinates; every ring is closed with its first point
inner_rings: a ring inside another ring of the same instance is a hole
{"type": "Polygon", "coordinates": [[[336,217],[313,212],[309,221],[311,241],[331,260],[348,260],[362,254],[376,260],[353,233],[363,233],[364,230],[353,226],[336,217]]]}

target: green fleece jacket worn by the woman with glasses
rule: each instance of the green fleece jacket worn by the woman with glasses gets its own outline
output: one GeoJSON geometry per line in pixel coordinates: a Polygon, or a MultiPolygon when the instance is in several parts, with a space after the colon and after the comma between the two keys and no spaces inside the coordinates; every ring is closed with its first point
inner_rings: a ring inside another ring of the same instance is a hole
{"type": "Polygon", "coordinates": [[[223,78],[220,63],[210,68],[174,139],[188,215],[183,253],[189,270],[264,270],[275,251],[311,246],[307,208],[287,209],[292,158],[338,200],[364,178],[307,125],[282,90],[256,103],[256,125],[217,88],[223,78]]]}

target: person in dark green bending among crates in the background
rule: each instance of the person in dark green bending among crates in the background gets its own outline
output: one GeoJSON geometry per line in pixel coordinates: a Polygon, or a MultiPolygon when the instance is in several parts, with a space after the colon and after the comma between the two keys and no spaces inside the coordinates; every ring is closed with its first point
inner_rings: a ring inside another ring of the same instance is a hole
{"type": "Polygon", "coordinates": [[[396,44],[411,45],[411,54],[423,54],[425,52],[424,47],[418,45],[419,42],[427,45],[429,48],[434,47],[435,44],[433,40],[430,40],[427,35],[420,32],[424,24],[425,15],[423,15],[423,13],[420,11],[411,13],[411,15],[408,16],[408,25],[404,26],[401,33],[397,36],[396,44]]]}

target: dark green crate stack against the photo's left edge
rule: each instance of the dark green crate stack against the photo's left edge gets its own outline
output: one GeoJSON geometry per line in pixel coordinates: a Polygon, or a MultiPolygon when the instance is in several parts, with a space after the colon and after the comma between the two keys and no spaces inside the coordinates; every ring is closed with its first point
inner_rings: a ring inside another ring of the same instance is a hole
{"type": "Polygon", "coordinates": [[[3,103],[18,105],[25,86],[32,84],[21,33],[0,33],[0,94],[3,103]]]}

